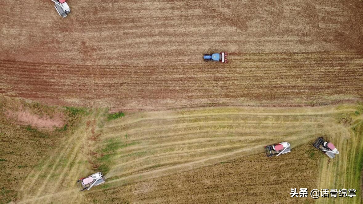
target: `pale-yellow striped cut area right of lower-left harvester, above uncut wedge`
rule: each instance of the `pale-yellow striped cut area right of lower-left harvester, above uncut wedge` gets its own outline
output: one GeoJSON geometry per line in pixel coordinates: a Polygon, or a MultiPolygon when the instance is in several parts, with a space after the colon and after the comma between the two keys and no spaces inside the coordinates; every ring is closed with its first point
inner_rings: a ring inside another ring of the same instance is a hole
{"type": "Polygon", "coordinates": [[[95,162],[108,172],[109,183],[135,182],[263,151],[274,142],[296,147],[344,131],[336,115],[354,111],[225,107],[130,113],[104,127],[95,162]]]}

